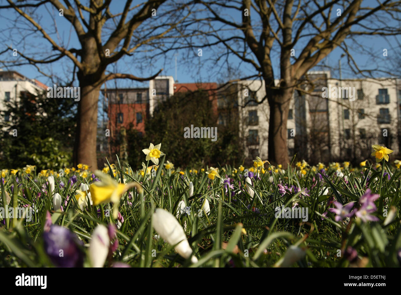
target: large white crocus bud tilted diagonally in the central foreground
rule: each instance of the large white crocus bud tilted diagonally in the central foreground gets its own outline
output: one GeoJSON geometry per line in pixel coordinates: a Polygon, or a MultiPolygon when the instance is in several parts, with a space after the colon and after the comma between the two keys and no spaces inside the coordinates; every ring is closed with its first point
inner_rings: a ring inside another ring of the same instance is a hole
{"type": "Polygon", "coordinates": [[[182,226],[174,216],[162,208],[156,208],[153,214],[153,228],[168,244],[175,245],[175,250],[184,258],[191,257],[191,262],[196,263],[198,259],[192,255],[182,226]],[[191,256],[192,255],[192,256],[191,256]]]}

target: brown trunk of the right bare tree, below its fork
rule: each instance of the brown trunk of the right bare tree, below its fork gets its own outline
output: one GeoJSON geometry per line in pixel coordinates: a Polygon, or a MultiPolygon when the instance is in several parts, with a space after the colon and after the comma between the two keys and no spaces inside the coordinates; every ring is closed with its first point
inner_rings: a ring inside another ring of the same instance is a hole
{"type": "Polygon", "coordinates": [[[274,94],[268,99],[270,108],[268,158],[269,161],[282,164],[283,167],[287,167],[287,163],[290,163],[287,146],[287,119],[291,99],[292,91],[290,90],[274,94]]]}

